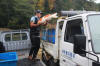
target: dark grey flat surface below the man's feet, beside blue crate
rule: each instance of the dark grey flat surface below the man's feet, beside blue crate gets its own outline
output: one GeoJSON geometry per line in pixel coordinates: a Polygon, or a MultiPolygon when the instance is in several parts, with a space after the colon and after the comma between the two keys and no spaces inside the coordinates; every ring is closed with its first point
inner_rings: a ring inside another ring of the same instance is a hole
{"type": "Polygon", "coordinates": [[[24,58],[18,61],[17,66],[45,66],[45,64],[41,60],[33,62],[27,58],[24,58]]]}

